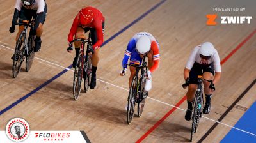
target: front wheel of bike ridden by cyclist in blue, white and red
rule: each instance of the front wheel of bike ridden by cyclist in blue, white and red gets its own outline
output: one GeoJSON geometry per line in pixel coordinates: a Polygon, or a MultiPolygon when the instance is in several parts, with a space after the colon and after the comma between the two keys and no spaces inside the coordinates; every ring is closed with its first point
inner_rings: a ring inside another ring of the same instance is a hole
{"type": "Polygon", "coordinates": [[[137,83],[138,77],[134,76],[132,79],[131,88],[129,90],[128,104],[127,104],[127,123],[131,124],[132,118],[134,116],[134,108],[136,105],[136,96],[137,96],[137,83]]]}

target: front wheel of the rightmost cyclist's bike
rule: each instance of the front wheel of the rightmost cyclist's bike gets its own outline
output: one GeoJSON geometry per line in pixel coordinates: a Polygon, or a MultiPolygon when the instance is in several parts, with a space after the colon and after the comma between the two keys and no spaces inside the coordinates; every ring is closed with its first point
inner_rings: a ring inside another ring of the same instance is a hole
{"type": "Polygon", "coordinates": [[[190,141],[192,142],[193,141],[193,135],[194,133],[196,132],[196,126],[198,125],[198,119],[199,119],[199,115],[198,115],[198,96],[200,96],[198,94],[198,91],[196,91],[196,94],[195,94],[195,100],[194,100],[194,103],[193,103],[193,107],[194,107],[194,110],[193,110],[193,114],[192,114],[192,128],[191,128],[191,136],[190,136],[190,141]]]}

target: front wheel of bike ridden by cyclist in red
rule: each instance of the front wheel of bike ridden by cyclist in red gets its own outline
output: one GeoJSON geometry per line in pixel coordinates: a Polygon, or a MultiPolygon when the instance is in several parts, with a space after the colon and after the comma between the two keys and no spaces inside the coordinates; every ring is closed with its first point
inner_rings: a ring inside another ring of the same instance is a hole
{"type": "Polygon", "coordinates": [[[73,80],[73,96],[74,100],[77,100],[79,98],[79,95],[81,93],[81,84],[83,80],[83,55],[80,54],[79,57],[76,59],[76,67],[74,70],[74,80],[73,80]]]}

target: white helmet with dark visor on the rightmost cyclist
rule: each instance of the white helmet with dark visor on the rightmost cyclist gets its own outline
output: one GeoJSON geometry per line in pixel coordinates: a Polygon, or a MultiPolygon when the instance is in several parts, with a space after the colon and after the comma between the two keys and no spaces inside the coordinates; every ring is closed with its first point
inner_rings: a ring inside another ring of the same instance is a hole
{"type": "Polygon", "coordinates": [[[210,59],[211,56],[214,54],[214,46],[210,42],[202,43],[200,49],[200,56],[202,59],[210,59]]]}

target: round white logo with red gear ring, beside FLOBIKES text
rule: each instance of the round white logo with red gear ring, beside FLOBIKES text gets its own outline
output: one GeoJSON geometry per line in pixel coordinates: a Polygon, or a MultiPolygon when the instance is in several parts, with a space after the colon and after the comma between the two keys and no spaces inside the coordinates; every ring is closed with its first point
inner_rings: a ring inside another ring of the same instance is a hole
{"type": "Polygon", "coordinates": [[[28,138],[29,124],[22,118],[14,118],[7,123],[5,132],[10,140],[22,142],[28,138]]]}

